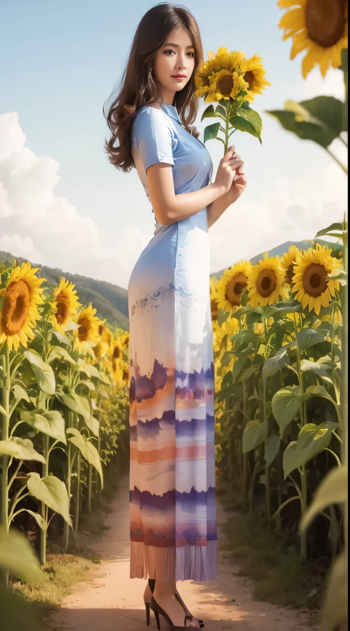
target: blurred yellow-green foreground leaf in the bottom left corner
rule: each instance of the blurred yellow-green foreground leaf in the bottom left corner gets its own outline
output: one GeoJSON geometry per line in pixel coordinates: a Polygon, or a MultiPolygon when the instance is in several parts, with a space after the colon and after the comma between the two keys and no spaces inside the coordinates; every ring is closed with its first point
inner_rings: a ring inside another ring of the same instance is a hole
{"type": "Polygon", "coordinates": [[[0,567],[11,570],[16,578],[28,583],[43,583],[46,580],[39,560],[28,539],[15,528],[9,533],[0,529],[0,567]]]}

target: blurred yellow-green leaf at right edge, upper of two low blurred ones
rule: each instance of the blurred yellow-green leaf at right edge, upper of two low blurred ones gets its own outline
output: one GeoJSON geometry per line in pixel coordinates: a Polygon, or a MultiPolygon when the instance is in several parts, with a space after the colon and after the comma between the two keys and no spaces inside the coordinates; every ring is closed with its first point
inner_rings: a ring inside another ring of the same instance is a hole
{"type": "Polygon", "coordinates": [[[347,500],[347,467],[334,467],[318,485],[312,504],[300,522],[300,530],[310,526],[316,515],[330,504],[342,504],[347,500]]]}

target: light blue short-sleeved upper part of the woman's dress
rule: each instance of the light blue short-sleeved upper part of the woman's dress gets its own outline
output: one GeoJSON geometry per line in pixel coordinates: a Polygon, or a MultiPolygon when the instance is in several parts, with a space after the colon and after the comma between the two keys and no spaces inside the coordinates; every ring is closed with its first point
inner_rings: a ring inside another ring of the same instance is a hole
{"type": "Polygon", "coordinates": [[[146,172],[160,162],[172,165],[175,194],[198,191],[210,183],[209,151],[182,126],[172,105],[139,109],[132,126],[131,153],[149,201],[146,172]]]}

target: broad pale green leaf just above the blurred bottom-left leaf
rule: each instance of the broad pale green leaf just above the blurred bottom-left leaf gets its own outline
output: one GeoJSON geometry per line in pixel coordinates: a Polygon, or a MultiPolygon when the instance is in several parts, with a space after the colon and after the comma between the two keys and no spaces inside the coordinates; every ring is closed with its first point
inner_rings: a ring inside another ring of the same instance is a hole
{"type": "Polygon", "coordinates": [[[73,527],[71,517],[69,515],[69,500],[67,489],[64,482],[56,478],[54,475],[47,475],[40,479],[38,473],[30,471],[27,482],[30,495],[36,497],[40,502],[44,502],[55,513],[61,515],[64,521],[73,527]]]}

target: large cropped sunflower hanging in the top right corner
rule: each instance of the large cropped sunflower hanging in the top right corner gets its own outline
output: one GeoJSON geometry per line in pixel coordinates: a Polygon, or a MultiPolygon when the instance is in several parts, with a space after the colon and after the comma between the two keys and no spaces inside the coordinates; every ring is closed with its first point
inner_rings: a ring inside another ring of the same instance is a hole
{"type": "Polygon", "coordinates": [[[347,2],[344,0],[279,0],[277,6],[289,9],[279,28],[284,28],[283,40],[293,37],[291,59],[302,50],[306,55],[301,64],[304,79],[315,64],[322,76],[341,65],[342,49],[347,49],[347,2]],[[291,8],[294,7],[294,8],[291,8]]]}

